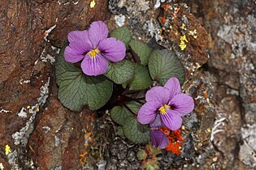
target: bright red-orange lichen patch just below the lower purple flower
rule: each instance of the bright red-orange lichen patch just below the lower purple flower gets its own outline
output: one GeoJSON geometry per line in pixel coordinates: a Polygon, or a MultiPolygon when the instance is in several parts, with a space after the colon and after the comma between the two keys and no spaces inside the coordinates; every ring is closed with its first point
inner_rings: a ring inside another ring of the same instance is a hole
{"type": "Polygon", "coordinates": [[[169,130],[167,127],[161,127],[159,128],[164,134],[167,135],[167,138],[169,139],[169,144],[166,151],[171,151],[172,154],[180,155],[180,150],[182,143],[184,142],[184,139],[181,138],[180,130],[169,130]]]}

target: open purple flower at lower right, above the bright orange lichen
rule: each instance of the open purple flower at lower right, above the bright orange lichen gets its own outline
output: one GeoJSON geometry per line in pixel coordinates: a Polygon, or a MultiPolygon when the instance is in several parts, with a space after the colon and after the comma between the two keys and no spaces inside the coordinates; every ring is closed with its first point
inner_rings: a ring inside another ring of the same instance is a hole
{"type": "Polygon", "coordinates": [[[176,78],[168,79],[164,87],[152,87],[145,94],[146,103],[141,106],[137,120],[141,124],[149,124],[160,115],[161,121],[170,130],[178,130],[183,116],[194,108],[193,98],[180,91],[180,83],[176,78]]]}

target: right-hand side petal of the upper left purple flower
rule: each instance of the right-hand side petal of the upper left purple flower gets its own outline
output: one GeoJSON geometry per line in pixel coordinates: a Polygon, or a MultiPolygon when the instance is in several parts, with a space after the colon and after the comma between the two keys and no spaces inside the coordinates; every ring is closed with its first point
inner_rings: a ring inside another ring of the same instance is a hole
{"type": "Polygon", "coordinates": [[[125,45],[113,37],[101,40],[98,49],[102,55],[111,62],[119,62],[125,57],[125,45]]]}

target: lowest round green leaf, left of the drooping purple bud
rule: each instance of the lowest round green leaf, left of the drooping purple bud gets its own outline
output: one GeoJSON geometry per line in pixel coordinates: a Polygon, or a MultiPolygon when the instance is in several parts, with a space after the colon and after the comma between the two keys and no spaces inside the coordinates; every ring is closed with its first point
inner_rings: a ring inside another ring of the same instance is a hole
{"type": "Polygon", "coordinates": [[[150,129],[141,125],[135,117],[128,117],[124,121],[124,135],[132,142],[144,143],[150,141],[150,129]]]}

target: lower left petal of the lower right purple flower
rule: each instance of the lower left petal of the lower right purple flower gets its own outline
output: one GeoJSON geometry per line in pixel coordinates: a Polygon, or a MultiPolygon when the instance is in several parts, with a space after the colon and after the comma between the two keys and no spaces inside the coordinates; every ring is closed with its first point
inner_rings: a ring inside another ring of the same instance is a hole
{"type": "Polygon", "coordinates": [[[154,101],[146,102],[141,106],[137,120],[141,124],[149,124],[151,121],[154,121],[154,118],[157,116],[157,110],[159,107],[161,107],[161,105],[154,101]]]}

